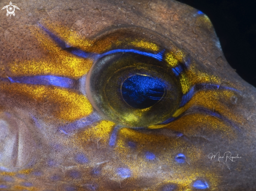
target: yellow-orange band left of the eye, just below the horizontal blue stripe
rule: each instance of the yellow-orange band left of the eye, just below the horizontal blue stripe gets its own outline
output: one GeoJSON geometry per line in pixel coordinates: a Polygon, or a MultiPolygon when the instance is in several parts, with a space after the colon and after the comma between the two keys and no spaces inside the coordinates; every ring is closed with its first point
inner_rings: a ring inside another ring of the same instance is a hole
{"type": "Polygon", "coordinates": [[[0,90],[18,97],[26,96],[41,103],[53,103],[58,106],[52,111],[53,115],[65,121],[77,120],[93,111],[90,101],[84,95],[67,89],[12,83],[3,84],[0,90]]]}

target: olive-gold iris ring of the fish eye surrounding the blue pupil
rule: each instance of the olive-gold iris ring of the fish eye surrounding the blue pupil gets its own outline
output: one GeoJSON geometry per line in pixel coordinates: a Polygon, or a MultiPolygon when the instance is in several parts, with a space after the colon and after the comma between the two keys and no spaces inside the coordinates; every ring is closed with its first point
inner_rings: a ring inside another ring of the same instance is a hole
{"type": "Polygon", "coordinates": [[[182,95],[179,80],[166,62],[135,53],[115,53],[98,59],[87,75],[86,92],[99,113],[128,127],[147,127],[167,120],[179,106],[182,95]],[[164,89],[158,102],[146,108],[127,104],[121,88],[131,76],[157,79],[164,89]]]}

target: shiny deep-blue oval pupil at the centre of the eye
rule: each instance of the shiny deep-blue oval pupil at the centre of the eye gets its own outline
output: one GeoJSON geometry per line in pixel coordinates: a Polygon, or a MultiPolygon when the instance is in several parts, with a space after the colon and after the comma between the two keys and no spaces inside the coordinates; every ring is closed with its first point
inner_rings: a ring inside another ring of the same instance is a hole
{"type": "Polygon", "coordinates": [[[128,105],[136,109],[146,109],[161,100],[164,87],[158,79],[135,75],[123,82],[121,93],[128,105]]]}

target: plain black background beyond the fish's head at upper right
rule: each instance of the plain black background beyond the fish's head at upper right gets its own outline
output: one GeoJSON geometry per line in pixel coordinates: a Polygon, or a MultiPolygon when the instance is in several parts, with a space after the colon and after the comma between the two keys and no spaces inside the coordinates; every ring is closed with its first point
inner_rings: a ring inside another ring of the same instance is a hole
{"type": "Polygon", "coordinates": [[[201,10],[210,18],[228,63],[256,87],[256,1],[177,1],[201,10]]]}

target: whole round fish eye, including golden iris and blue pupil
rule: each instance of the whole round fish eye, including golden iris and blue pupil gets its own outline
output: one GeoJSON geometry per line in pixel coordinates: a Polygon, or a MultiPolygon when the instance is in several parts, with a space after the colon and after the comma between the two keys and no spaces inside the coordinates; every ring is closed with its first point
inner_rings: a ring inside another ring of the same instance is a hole
{"type": "Polygon", "coordinates": [[[181,102],[181,85],[164,60],[133,52],[99,58],[86,81],[88,99],[110,121],[127,127],[160,124],[181,102]]]}

